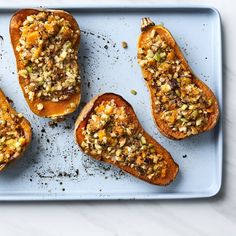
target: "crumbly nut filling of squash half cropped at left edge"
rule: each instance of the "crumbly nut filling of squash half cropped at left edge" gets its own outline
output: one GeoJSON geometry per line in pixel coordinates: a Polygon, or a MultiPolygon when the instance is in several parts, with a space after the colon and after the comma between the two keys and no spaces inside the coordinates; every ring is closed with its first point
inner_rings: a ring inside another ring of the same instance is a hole
{"type": "Polygon", "coordinates": [[[22,114],[10,114],[6,105],[0,108],[0,164],[18,156],[26,144],[26,137],[19,125],[22,114]]]}

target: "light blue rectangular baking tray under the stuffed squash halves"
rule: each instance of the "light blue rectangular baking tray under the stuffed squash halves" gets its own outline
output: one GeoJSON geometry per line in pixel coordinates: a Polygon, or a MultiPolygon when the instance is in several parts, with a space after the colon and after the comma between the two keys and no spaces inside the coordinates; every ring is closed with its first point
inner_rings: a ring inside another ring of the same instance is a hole
{"type": "MultiPolygon", "coordinates": [[[[30,6],[28,6],[30,7],[30,6]]],[[[34,5],[34,7],[39,7],[34,5]]],[[[47,7],[47,6],[44,6],[47,7]]],[[[79,61],[82,102],[57,127],[32,114],[19,88],[10,45],[9,21],[16,9],[0,10],[0,86],[33,126],[25,155],[0,173],[0,200],[173,199],[215,195],[222,178],[222,122],[207,133],[183,141],[160,134],[151,116],[149,93],[136,60],[140,20],[150,17],[172,32],[193,71],[215,92],[222,110],[221,23],[217,10],[206,6],[96,6],[65,9],[81,28],[79,61]],[[128,48],[123,49],[121,42],[128,48]],[[131,89],[137,91],[134,96],[131,89]],[[115,92],[127,99],[143,127],[173,156],[180,172],[167,187],[138,180],[78,150],[74,122],[94,95],[115,92]]]]}

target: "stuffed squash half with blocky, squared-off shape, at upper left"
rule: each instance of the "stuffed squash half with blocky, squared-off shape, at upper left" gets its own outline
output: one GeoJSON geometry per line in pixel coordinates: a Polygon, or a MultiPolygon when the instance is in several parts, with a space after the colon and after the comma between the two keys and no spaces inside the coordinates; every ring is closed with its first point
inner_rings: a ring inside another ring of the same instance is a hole
{"type": "Polygon", "coordinates": [[[11,19],[10,36],[32,112],[57,118],[75,111],[81,97],[80,29],[73,16],[61,10],[20,10],[11,19]]]}

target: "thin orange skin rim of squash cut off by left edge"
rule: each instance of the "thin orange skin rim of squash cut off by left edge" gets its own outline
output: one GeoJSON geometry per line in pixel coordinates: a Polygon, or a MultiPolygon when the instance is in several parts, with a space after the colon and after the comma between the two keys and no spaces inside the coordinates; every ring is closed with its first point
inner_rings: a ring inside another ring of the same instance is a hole
{"type": "MultiPolygon", "coordinates": [[[[6,106],[9,109],[10,114],[14,114],[14,115],[17,114],[17,112],[11,107],[11,105],[8,102],[3,91],[0,89],[0,107],[2,105],[6,106]]],[[[23,147],[23,149],[19,155],[10,159],[9,162],[7,162],[7,163],[0,164],[0,171],[4,170],[12,161],[19,159],[23,155],[24,151],[27,149],[28,145],[30,144],[30,141],[32,138],[32,129],[31,129],[31,125],[30,125],[29,121],[26,118],[22,117],[20,125],[21,125],[22,129],[24,130],[24,135],[26,138],[25,146],[23,147]]]]}

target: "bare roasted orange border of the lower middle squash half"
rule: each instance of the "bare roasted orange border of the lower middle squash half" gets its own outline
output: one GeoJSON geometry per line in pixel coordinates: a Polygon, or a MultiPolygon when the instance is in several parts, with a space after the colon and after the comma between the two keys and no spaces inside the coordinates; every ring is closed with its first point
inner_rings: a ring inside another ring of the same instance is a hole
{"type": "MultiPolygon", "coordinates": [[[[105,94],[98,95],[98,96],[94,97],[89,103],[87,103],[87,105],[83,108],[83,110],[81,111],[81,113],[78,116],[76,123],[75,123],[75,129],[74,129],[75,141],[79,145],[79,148],[81,151],[84,152],[83,148],[81,147],[81,143],[83,141],[82,129],[86,126],[91,113],[93,112],[95,107],[97,105],[99,105],[102,101],[110,101],[112,99],[114,99],[117,106],[124,106],[126,108],[126,112],[128,113],[130,119],[132,119],[133,122],[137,122],[138,128],[143,130],[132,106],[124,98],[122,98],[121,96],[114,94],[114,93],[105,93],[105,94]]],[[[125,172],[127,172],[127,173],[141,179],[141,180],[149,182],[151,184],[161,185],[161,186],[165,186],[165,185],[170,184],[176,178],[176,176],[178,174],[178,171],[179,171],[178,164],[176,164],[174,162],[170,153],[165,148],[163,148],[159,143],[157,143],[157,141],[154,140],[147,132],[144,131],[143,135],[148,142],[153,144],[153,146],[158,150],[159,153],[161,153],[164,156],[165,160],[167,161],[168,169],[167,169],[167,176],[166,177],[164,177],[164,178],[156,177],[153,179],[149,179],[145,175],[139,175],[136,170],[134,170],[133,168],[131,168],[129,166],[123,166],[123,165],[120,165],[119,163],[114,163],[110,159],[104,160],[102,158],[102,156],[98,156],[98,155],[95,156],[95,155],[91,155],[91,154],[89,154],[89,155],[96,160],[104,161],[106,163],[112,164],[112,165],[124,170],[125,172]]]]}

